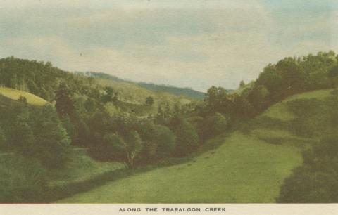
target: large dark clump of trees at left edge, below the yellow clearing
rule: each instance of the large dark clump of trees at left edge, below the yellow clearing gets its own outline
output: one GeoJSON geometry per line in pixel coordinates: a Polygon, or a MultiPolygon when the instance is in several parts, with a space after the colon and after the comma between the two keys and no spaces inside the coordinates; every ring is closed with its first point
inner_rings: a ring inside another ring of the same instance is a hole
{"type": "Polygon", "coordinates": [[[54,107],[23,106],[0,112],[13,112],[16,115],[6,121],[7,150],[35,157],[49,168],[62,167],[65,164],[70,140],[54,107]]]}

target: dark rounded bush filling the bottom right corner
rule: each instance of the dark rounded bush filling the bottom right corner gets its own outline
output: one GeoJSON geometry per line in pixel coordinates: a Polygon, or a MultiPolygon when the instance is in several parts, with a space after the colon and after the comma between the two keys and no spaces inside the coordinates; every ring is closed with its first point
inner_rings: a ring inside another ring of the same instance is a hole
{"type": "Polygon", "coordinates": [[[303,166],[282,185],[277,202],[338,202],[338,136],[323,139],[303,153],[303,166]]]}

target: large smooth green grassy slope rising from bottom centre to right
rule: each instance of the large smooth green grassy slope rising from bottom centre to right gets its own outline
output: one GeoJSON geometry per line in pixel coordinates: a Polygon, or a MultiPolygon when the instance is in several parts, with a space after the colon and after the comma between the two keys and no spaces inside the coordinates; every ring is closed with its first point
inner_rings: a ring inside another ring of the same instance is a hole
{"type": "Polygon", "coordinates": [[[223,144],[192,162],[113,181],[60,202],[275,202],[284,178],[301,164],[299,143],[313,140],[267,122],[292,119],[284,106],[289,100],[329,95],[325,90],[292,96],[254,119],[245,133],[211,140],[223,144]]]}

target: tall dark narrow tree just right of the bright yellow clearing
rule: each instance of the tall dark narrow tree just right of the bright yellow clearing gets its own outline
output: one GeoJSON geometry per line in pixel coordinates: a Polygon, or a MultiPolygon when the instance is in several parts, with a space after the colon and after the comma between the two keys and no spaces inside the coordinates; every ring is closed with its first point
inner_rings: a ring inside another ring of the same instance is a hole
{"type": "Polygon", "coordinates": [[[56,111],[58,115],[62,118],[68,115],[70,118],[74,114],[74,102],[72,98],[72,92],[65,83],[61,83],[58,86],[58,91],[56,92],[56,111]]]}

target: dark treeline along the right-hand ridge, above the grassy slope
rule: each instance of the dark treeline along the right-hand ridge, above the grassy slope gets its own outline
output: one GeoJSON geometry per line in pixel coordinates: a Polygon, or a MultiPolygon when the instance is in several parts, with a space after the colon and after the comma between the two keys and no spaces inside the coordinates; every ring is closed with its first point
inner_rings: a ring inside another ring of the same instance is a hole
{"type": "Polygon", "coordinates": [[[222,87],[212,86],[204,103],[196,106],[196,112],[204,119],[220,113],[234,126],[287,96],[337,86],[337,61],[338,56],[333,51],[303,58],[284,58],[266,66],[253,84],[246,88],[242,86],[242,93],[227,93],[222,87]]]}

